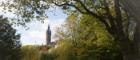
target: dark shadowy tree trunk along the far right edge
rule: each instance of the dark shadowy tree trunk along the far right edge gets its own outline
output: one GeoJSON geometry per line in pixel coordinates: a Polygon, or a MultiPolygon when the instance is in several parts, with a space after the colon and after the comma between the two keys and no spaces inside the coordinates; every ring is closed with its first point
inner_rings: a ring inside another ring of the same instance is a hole
{"type": "Polygon", "coordinates": [[[122,3],[129,15],[136,21],[134,40],[130,44],[130,52],[124,54],[126,55],[124,60],[140,60],[140,0],[122,0],[122,3]]]}

